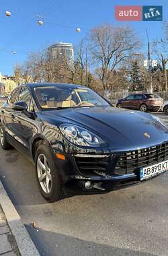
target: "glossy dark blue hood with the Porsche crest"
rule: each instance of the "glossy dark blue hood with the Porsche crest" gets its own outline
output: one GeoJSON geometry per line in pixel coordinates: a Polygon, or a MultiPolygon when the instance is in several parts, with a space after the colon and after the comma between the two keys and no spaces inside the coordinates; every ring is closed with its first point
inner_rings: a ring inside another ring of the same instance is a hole
{"type": "Polygon", "coordinates": [[[139,111],[84,107],[51,110],[44,115],[52,117],[55,125],[62,120],[63,123],[73,123],[93,131],[114,151],[146,148],[168,141],[167,128],[152,115],[139,111]]]}

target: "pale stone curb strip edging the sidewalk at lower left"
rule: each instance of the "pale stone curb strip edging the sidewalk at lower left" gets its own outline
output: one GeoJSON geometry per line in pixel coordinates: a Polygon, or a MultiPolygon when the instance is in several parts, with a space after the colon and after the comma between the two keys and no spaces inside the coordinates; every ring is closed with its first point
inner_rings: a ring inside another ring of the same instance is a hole
{"type": "Polygon", "coordinates": [[[21,218],[11,199],[7,195],[1,181],[0,181],[0,203],[1,208],[5,214],[9,227],[11,228],[11,233],[15,236],[15,241],[17,243],[17,247],[19,249],[19,253],[22,256],[40,256],[36,246],[34,245],[26,227],[21,221],[21,218]]]}

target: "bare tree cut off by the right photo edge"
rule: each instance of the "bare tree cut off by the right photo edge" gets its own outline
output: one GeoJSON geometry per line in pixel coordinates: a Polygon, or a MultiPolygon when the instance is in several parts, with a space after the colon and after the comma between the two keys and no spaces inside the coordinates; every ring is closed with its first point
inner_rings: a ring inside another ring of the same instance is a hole
{"type": "Polygon", "coordinates": [[[163,37],[160,40],[157,39],[153,42],[153,49],[163,69],[163,77],[164,77],[163,90],[167,91],[168,89],[167,88],[167,68],[166,68],[168,63],[168,24],[167,22],[163,24],[163,37]]]}

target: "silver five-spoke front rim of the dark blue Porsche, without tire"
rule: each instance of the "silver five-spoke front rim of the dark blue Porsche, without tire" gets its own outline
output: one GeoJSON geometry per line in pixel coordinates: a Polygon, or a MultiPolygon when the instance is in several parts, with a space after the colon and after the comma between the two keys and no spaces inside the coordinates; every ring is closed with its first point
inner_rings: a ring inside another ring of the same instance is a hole
{"type": "Polygon", "coordinates": [[[40,154],[37,160],[38,181],[42,190],[49,194],[52,189],[52,175],[48,160],[44,154],[40,154]]]}

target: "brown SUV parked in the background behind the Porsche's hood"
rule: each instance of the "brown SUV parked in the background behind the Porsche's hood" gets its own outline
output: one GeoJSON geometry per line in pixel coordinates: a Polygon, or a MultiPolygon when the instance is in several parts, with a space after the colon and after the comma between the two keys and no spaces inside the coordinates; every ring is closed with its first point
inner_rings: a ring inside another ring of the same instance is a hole
{"type": "Polygon", "coordinates": [[[130,108],[142,112],[157,111],[163,104],[163,98],[155,94],[131,94],[118,100],[118,108],[130,108]]]}

